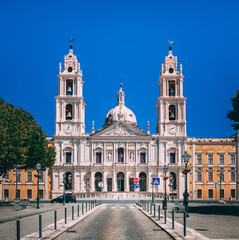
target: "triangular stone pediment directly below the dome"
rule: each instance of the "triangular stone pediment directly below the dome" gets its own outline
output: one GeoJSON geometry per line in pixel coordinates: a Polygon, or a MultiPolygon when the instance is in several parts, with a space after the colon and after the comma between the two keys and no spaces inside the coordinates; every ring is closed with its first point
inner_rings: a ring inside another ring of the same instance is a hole
{"type": "Polygon", "coordinates": [[[149,136],[148,133],[124,122],[117,122],[109,127],[101,129],[92,136],[102,137],[134,137],[134,136],[149,136]]]}

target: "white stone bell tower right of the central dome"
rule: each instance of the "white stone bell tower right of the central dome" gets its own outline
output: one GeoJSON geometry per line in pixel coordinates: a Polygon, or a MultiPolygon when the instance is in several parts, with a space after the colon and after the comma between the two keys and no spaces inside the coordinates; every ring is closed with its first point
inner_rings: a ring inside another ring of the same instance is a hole
{"type": "Polygon", "coordinates": [[[177,57],[172,53],[165,57],[159,75],[159,98],[157,106],[157,133],[159,136],[186,136],[186,98],[183,96],[182,64],[178,71],[177,57]]]}

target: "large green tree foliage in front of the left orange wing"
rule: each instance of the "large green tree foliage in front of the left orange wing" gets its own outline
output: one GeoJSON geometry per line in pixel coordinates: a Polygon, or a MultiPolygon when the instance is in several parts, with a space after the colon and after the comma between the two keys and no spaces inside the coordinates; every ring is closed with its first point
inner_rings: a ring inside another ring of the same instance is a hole
{"type": "Polygon", "coordinates": [[[42,169],[55,162],[55,148],[48,146],[46,135],[33,116],[0,98],[0,176],[20,165],[42,169]]]}

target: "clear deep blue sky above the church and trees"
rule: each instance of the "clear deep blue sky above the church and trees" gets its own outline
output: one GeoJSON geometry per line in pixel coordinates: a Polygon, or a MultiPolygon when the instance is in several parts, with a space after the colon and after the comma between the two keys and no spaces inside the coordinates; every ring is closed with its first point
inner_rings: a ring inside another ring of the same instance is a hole
{"type": "Polygon", "coordinates": [[[161,64],[173,40],[183,64],[190,137],[228,137],[226,113],[239,88],[239,1],[0,1],[0,97],[30,112],[54,134],[59,62],[81,63],[86,132],[116,105],[122,79],[126,106],[140,128],[156,131],[161,64]]]}

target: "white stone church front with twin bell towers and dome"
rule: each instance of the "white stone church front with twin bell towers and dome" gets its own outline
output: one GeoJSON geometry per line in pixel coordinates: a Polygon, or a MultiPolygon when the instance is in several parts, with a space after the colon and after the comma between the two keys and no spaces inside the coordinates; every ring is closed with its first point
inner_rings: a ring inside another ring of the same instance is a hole
{"type": "MultiPolygon", "coordinates": [[[[80,64],[73,50],[64,59],[64,70],[58,74],[55,135],[56,162],[52,167],[52,198],[66,192],[78,197],[100,195],[109,198],[146,197],[152,193],[152,174],[160,178],[156,196],[164,194],[163,167],[176,179],[175,193],[182,199],[186,150],[186,98],[183,97],[182,67],[177,71],[177,58],[165,58],[159,78],[157,133],[140,130],[136,116],[125,106],[122,86],[117,93],[117,106],[109,111],[103,129],[85,133],[85,103],[80,64]],[[140,179],[140,189],[133,179],[140,179]]],[[[167,194],[171,189],[167,183],[167,194]]]]}

